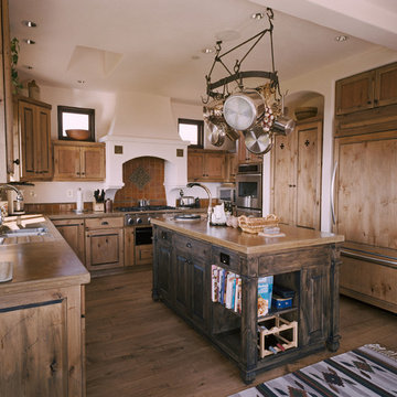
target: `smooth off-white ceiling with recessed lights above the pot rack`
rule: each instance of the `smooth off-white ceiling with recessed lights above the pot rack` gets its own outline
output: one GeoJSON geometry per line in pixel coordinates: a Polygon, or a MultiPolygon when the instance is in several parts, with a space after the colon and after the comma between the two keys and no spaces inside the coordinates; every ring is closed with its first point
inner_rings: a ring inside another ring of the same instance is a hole
{"type": "MultiPolygon", "coordinates": [[[[201,103],[205,75],[221,32],[238,39],[268,26],[250,15],[275,11],[275,61],[282,79],[336,62],[374,45],[397,50],[396,0],[10,0],[11,37],[20,40],[21,79],[93,90],[136,90],[201,103]],[[331,6],[332,4],[332,6],[331,6]],[[31,20],[37,28],[26,28],[31,20]],[[350,40],[337,43],[335,36],[350,40]],[[28,45],[24,40],[36,42],[28,45]],[[32,66],[28,69],[26,66],[32,66]],[[77,81],[85,81],[84,86],[77,81]]],[[[244,51],[243,51],[244,53],[244,51]]],[[[234,52],[227,66],[242,52],[234,52]]],[[[226,60],[227,62],[227,60],[226,60]]],[[[242,71],[271,68],[268,39],[242,71]]],[[[216,67],[212,81],[224,77],[216,67]]]]}

